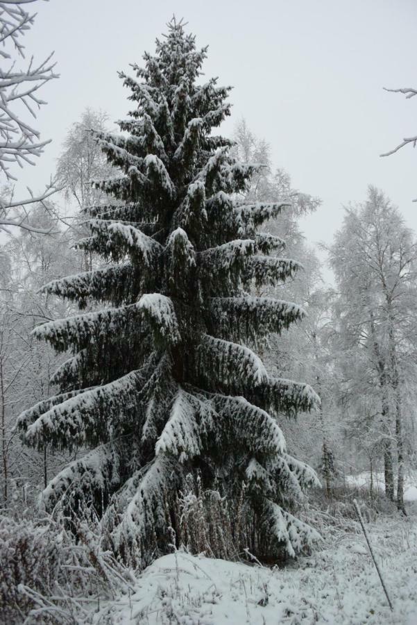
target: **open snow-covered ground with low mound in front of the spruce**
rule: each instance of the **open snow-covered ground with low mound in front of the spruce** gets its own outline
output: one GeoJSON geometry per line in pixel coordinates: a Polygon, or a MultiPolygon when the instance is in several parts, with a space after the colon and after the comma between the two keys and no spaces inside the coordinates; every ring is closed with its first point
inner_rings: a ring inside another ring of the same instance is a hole
{"type": "Polygon", "coordinates": [[[129,596],[103,607],[99,624],[416,625],[417,504],[407,518],[366,524],[393,602],[391,613],[355,522],[284,569],[177,551],[153,562],[129,596]]]}

